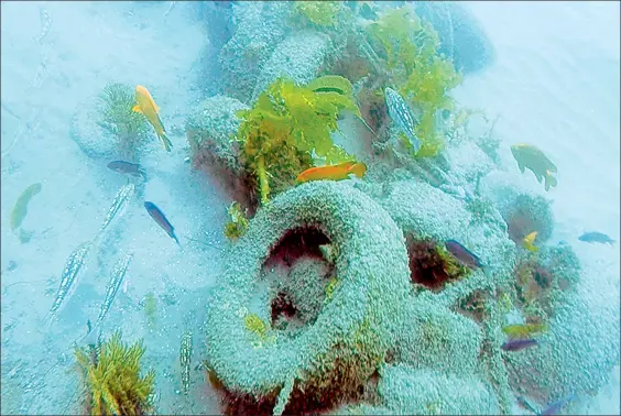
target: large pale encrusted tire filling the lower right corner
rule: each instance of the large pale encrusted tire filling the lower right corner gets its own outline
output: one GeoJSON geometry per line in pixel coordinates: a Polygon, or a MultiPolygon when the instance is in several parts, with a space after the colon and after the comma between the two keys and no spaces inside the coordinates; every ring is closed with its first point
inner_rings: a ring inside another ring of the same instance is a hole
{"type": "Polygon", "coordinates": [[[588,273],[597,277],[555,303],[536,348],[504,355],[512,388],[542,407],[577,392],[595,395],[619,362],[619,288],[602,284],[601,269],[588,273]]]}

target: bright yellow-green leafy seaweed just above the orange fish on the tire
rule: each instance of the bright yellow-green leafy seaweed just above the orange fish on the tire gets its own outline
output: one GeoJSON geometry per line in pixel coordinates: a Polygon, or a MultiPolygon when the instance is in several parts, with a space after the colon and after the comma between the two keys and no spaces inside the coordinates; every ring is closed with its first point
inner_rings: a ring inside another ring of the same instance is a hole
{"type": "Polygon", "coordinates": [[[313,91],[279,78],[250,110],[238,111],[243,121],[236,136],[243,143],[240,157],[254,174],[261,202],[295,184],[314,162],[335,164],[352,157],[334,144],[341,111],[359,114],[351,97],[335,91],[313,91]]]}

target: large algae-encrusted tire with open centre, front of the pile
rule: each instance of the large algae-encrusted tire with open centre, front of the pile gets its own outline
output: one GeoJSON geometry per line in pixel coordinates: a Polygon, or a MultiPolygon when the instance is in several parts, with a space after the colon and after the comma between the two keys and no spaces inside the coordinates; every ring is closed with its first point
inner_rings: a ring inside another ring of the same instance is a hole
{"type": "Polygon", "coordinates": [[[327,409],[360,392],[394,341],[408,276],[403,233],[364,194],[322,180],[279,195],[232,248],[207,311],[206,364],[226,393],[227,413],[327,409]],[[288,337],[266,325],[268,341],[253,342],[244,314],[260,291],[263,263],[281,237],[299,227],[330,240],[338,284],[302,333],[288,337]]]}

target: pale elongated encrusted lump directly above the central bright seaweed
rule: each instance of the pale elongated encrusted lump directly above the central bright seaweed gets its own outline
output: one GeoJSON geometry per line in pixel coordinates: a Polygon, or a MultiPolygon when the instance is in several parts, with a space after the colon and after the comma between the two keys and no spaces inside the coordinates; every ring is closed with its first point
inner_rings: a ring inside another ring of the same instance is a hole
{"type": "Polygon", "coordinates": [[[252,102],[279,78],[287,78],[295,84],[313,80],[319,75],[329,48],[329,36],[317,31],[306,30],[286,37],[263,65],[252,92],[252,102]]]}

